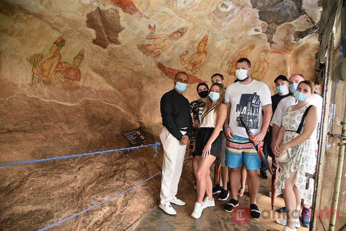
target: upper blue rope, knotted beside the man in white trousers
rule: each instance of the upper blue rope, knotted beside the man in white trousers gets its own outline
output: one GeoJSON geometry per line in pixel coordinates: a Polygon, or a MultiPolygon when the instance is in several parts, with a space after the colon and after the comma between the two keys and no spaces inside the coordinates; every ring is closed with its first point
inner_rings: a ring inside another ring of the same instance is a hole
{"type": "Polygon", "coordinates": [[[20,161],[20,162],[14,162],[14,163],[4,163],[4,164],[0,164],[0,167],[21,165],[21,164],[31,164],[31,163],[38,163],[38,162],[43,162],[43,161],[51,161],[51,160],[57,160],[57,159],[69,159],[69,158],[74,158],[74,157],[91,156],[91,155],[105,154],[105,153],[111,153],[111,152],[121,152],[121,151],[124,151],[124,150],[146,148],[146,147],[151,147],[151,146],[153,146],[154,151],[155,151],[154,156],[156,156],[157,153],[158,153],[157,152],[157,147],[160,146],[160,145],[161,145],[160,142],[155,142],[154,144],[149,144],[149,145],[135,146],[135,147],[129,147],[129,148],[120,148],[120,149],[110,149],[110,150],[107,150],[107,151],[96,151],[94,153],[83,153],[83,154],[76,154],[76,155],[70,155],[70,156],[58,156],[58,157],[51,157],[51,158],[45,158],[45,159],[27,160],[27,161],[20,161]]]}

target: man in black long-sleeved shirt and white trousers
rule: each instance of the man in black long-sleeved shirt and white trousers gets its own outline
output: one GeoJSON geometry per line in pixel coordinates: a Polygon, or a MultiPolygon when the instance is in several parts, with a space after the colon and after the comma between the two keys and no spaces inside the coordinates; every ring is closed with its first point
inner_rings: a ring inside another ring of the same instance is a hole
{"type": "Polygon", "coordinates": [[[160,101],[162,124],[160,139],[164,149],[159,207],[170,215],[176,211],[171,203],[185,205],[175,195],[183,169],[186,145],[191,138],[192,117],[190,104],[182,92],[186,89],[189,76],[178,72],[174,77],[174,89],[165,93],[160,101]]]}

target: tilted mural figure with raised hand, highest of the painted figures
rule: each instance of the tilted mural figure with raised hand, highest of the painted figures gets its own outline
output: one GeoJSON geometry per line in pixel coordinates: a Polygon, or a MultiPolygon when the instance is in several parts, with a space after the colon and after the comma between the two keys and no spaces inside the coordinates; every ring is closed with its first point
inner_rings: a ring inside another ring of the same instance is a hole
{"type": "Polygon", "coordinates": [[[148,29],[150,30],[150,33],[147,35],[145,39],[147,40],[153,40],[151,44],[143,43],[138,44],[137,48],[143,54],[146,56],[151,56],[153,58],[158,57],[161,55],[165,50],[171,47],[173,41],[176,41],[180,39],[188,30],[188,27],[181,27],[177,29],[176,31],[173,31],[171,34],[159,34],[154,35],[156,31],[156,25],[148,25],[148,29]]]}

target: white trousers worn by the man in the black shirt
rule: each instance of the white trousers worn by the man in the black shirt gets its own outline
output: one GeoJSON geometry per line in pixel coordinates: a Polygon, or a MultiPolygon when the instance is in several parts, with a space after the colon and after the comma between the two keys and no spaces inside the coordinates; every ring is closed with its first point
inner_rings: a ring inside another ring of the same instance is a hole
{"type": "MultiPolygon", "coordinates": [[[[186,132],[181,132],[185,135],[186,132]]],[[[160,134],[163,147],[163,165],[161,178],[161,204],[169,203],[178,192],[178,183],[183,169],[186,145],[180,145],[177,140],[164,127],[160,134]]]]}

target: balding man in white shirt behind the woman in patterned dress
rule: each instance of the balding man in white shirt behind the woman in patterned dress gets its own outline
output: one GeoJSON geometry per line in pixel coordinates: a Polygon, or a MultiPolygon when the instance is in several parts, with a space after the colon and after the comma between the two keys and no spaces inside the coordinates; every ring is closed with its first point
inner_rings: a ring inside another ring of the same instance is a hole
{"type": "MultiPolygon", "coordinates": [[[[301,74],[293,74],[291,75],[291,77],[289,78],[289,89],[290,92],[292,93],[291,96],[288,96],[282,100],[280,100],[279,104],[277,105],[277,108],[275,110],[275,113],[273,115],[272,121],[270,122],[270,125],[273,127],[272,129],[272,150],[274,149],[274,144],[276,141],[276,137],[279,133],[279,130],[281,128],[281,120],[284,117],[288,107],[297,104],[297,100],[294,98],[294,92],[298,87],[298,84],[304,81],[304,77],[301,74]]],[[[323,99],[320,95],[318,94],[313,94],[311,99],[310,99],[310,103],[314,106],[317,107],[317,112],[318,112],[318,120],[321,120],[321,114],[322,114],[322,105],[323,105],[323,99]]],[[[317,149],[317,129],[318,129],[319,125],[316,127],[315,131],[312,133],[311,135],[311,139],[313,139],[312,144],[316,144],[316,149],[317,149]]],[[[315,155],[315,159],[311,160],[313,161],[313,164],[316,166],[317,164],[317,156],[315,155]]],[[[315,166],[312,168],[313,170],[311,172],[308,172],[309,174],[314,174],[315,173],[315,166]]],[[[311,194],[313,193],[313,179],[310,179],[309,181],[309,189],[307,191],[307,193],[311,194]]],[[[277,192],[275,193],[276,195],[280,194],[281,192],[279,192],[277,190],[277,192]]],[[[302,225],[309,227],[310,224],[310,216],[311,216],[311,212],[310,212],[310,206],[312,203],[312,198],[310,201],[304,201],[304,206],[303,206],[303,210],[302,210],[302,225]]],[[[281,213],[285,213],[286,209],[285,207],[282,207],[279,209],[279,211],[281,213]]],[[[283,224],[283,223],[282,223],[283,224]]]]}

